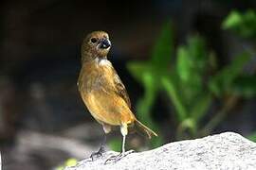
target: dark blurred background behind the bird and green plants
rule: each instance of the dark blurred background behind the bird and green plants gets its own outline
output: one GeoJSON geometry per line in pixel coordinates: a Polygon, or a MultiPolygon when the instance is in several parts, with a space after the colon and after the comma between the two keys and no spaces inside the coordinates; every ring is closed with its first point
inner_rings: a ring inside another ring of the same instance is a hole
{"type": "MultiPolygon", "coordinates": [[[[101,126],[85,109],[76,86],[80,45],[87,33],[109,33],[113,44],[109,59],[134,108],[143,89],[128,73],[126,62],[149,58],[163,24],[174,23],[175,44],[184,43],[193,32],[205,36],[221,66],[244,48],[220,29],[223,19],[230,9],[255,7],[252,0],[1,1],[0,148],[4,169],[49,169],[70,157],[88,157],[101,143],[101,126]]],[[[233,114],[216,132],[247,134],[255,129],[255,98],[244,102],[243,116],[233,114]]],[[[167,110],[161,102],[155,108],[167,110]]],[[[156,115],[163,126],[165,116],[156,115]]],[[[172,126],[163,129],[170,130],[172,126]]],[[[173,140],[166,135],[166,143],[173,140]]]]}

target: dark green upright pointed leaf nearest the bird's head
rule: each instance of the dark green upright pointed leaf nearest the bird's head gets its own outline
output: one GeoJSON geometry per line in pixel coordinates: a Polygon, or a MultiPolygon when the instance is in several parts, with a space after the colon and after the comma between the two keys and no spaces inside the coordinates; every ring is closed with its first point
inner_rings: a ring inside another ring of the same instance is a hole
{"type": "Polygon", "coordinates": [[[160,36],[155,42],[151,62],[159,69],[166,68],[171,64],[174,51],[174,35],[171,23],[163,26],[160,36]]]}

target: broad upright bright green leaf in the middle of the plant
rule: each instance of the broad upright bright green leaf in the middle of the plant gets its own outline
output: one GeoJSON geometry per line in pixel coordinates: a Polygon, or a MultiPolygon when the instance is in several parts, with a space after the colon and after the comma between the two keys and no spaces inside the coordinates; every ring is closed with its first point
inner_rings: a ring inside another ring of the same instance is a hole
{"type": "MultiPolygon", "coordinates": [[[[204,40],[200,36],[192,36],[186,46],[177,49],[176,72],[180,78],[178,91],[186,107],[194,105],[204,91],[203,79],[210,68],[210,54],[207,53],[204,40]]],[[[191,109],[187,109],[191,110],[191,109]]]]}

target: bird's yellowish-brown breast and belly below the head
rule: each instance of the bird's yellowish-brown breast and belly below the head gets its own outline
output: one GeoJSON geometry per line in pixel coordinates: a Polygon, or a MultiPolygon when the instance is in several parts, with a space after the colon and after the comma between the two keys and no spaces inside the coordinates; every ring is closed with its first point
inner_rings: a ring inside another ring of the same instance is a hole
{"type": "Polygon", "coordinates": [[[132,123],[135,116],[117,94],[116,71],[108,60],[84,63],[79,77],[82,100],[94,118],[108,125],[132,123]]]}

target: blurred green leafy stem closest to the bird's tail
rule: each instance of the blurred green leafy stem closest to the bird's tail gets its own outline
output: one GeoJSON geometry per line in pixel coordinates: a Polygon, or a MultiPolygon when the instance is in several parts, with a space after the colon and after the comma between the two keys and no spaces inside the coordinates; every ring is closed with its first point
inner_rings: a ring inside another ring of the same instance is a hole
{"type": "MultiPolygon", "coordinates": [[[[155,42],[151,59],[128,63],[128,70],[144,88],[144,95],[137,102],[137,118],[159,134],[159,127],[151,116],[157,93],[161,90],[161,77],[169,73],[169,66],[174,53],[174,35],[171,23],[163,27],[155,42]]],[[[151,146],[163,144],[161,135],[150,141],[151,146]]]]}

